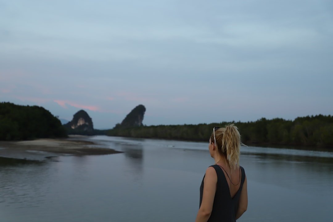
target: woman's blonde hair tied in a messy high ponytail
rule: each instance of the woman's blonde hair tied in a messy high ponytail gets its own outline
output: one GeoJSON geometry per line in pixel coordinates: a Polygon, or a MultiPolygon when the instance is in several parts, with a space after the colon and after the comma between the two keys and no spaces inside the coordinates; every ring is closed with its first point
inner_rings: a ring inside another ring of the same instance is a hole
{"type": "MultiPolygon", "coordinates": [[[[238,128],[234,124],[229,124],[225,128],[216,129],[215,140],[218,154],[226,157],[229,166],[236,169],[236,165],[239,165],[240,145],[242,144],[238,128]]],[[[210,136],[210,141],[214,141],[214,132],[210,136]]]]}

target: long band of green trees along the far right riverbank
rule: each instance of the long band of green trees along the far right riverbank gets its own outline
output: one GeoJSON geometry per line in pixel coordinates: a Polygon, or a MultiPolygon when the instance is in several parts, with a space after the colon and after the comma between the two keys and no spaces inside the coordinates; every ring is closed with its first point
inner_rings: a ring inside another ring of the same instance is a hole
{"type": "MultiPolygon", "coordinates": [[[[230,122],[197,125],[157,125],[114,128],[110,136],[207,141],[214,126],[230,122]]],[[[295,120],[261,118],[251,122],[234,122],[245,144],[321,146],[333,148],[333,116],[316,115],[295,120]]]]}

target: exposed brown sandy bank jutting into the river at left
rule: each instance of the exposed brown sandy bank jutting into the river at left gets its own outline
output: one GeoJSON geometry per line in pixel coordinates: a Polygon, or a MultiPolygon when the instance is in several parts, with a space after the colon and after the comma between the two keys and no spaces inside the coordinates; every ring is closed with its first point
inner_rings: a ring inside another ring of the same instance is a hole
{"type": "MultiPolygon", "coordinates": [[[[114,149],[97,147],[99,144],[80,140],[80,137],[71,139],[36,139],[28,141],[0,141],[0,156],[10,158],[30,158],[33,154],[49,156],[53,154],[73,155],[102,155],[121,153],[114,149]],[[35,152],[34,152],[35,151],[35,152]],[[47,153],[44,153],[47,152],[47,153]],[[27,153],[28,157],[24,157],[27,153]],[[28,155],[29,153],[29,155],[28,155]]],[[[32,158],[34,159],[34,158],[32,158]]]]}

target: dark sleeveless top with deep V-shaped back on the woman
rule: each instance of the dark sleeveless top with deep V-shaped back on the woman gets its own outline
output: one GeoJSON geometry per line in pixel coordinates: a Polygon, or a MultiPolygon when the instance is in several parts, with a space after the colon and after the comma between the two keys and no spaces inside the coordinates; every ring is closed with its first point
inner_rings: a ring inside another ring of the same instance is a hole
{"type": "MultiPolygon", "coordinates": [[[[217,222],[217,221],[225,221],[225,222],[235,222],[236,221],[236,213],[238,210],[238,200],[240,197],[240,192],[243,187],[243,183],[245,181],[245,171],[244,168],[240,166],[242,178],[240,182],[239,189],[236,195],[231,198],[230,190],[228,182],[225,178],[225,175],[218,165],[212,165],[214,167],[217,174],[217,187],[214,196],[213,209],[211,211],[211,215],[208,219],[208,222],[217,222]]],[[[203,193],[203,180],[205,176],[203,176],[201,186],[200,186],[200,204],[202,202],[202,193],[203,193]]]]}

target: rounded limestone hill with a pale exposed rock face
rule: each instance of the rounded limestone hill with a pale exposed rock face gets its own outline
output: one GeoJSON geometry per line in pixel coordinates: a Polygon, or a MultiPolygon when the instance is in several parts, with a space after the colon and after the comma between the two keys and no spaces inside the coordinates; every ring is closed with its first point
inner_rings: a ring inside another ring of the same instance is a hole
{"type": "Polygon", "coordinates": [[[92,134],[94,131],[93,121],[84,110],[76,112],[73,119],[64,126],[68,134],[92,134]]]}

